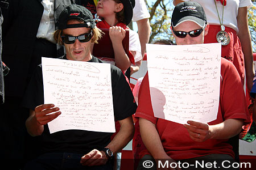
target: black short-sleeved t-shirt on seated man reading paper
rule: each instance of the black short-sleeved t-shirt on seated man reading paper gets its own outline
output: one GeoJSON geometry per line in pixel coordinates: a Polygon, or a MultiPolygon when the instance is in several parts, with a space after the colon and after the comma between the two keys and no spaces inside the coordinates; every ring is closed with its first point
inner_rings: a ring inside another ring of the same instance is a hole
{"type": "MultiPolygon", "coordinates": [[[[67,58],[63,56],[61,59],[67,58]]],[[[96,57],[92,57],[88,62],[102,63],[96,57]]],[[[137,104],[122,71],[111,65],[111,75],[114,118],[115,121],[123,120],[135,113],[137,104]]],[[[39,65],[24,95],[23,106],[34,110],[38,105],[44,104],[43,93],[42,66],[39,65]]],[[[42,146],[42,152],[87,154],[94,148],[101,150],[107,146],[112,134],[86,130],[63,130],[50,134],[48,125],[44,125],[43,134],[37,138],[42,146]]]]}

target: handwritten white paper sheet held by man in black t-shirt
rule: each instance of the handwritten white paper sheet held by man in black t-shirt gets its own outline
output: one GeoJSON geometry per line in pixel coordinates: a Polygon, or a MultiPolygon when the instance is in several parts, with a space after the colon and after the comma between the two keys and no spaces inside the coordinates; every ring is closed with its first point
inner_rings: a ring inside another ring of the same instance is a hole
{"type": "Polygon", "coordinates": [[[50,133],[61,130],[115,132],[109,63],[42,57],[44,103],[61,114],[48,123],[50,133]]]}

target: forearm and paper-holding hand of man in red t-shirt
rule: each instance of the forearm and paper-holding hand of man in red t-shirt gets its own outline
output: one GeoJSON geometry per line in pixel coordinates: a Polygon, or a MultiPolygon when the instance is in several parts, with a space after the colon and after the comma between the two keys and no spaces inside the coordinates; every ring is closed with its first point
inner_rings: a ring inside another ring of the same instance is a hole
{"type": "Polygon", "coordinates": [[[217,125],[208,125],[195,121],[188,121],[184,127],[188,130],[191,139],[204,142],[207,139],[229,139],[239,134],[242,130],[243,120],[227,119],[217,125]]]}

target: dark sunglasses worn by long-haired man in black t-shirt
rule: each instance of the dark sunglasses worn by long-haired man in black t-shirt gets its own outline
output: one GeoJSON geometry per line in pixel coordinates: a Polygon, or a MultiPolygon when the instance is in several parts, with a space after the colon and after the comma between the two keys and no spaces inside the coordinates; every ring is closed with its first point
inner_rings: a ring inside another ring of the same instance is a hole
{"type": "Polygon", "coordinates": [[[84,33],[80,36],[61,36],[62,41],[65,44],[73,44],[75,43],[76,39],[79,40],[80,42],[88,42],[90,39],[92,39],[92,30],[90,31],[90,33],[84,33]]]}

